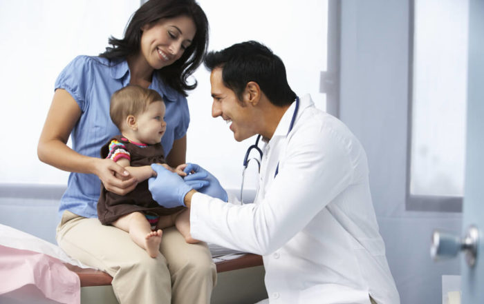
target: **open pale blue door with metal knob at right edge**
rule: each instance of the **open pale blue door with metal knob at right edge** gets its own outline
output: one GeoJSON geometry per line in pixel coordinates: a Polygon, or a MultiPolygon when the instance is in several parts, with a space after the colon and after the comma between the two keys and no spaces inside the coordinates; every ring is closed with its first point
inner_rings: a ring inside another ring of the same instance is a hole
{"type": "Polygon", "coordinates": [[[484,303],[484,0],[469,1],[467,136],[462,235],[435,232],[431,254],[456,256],[463,251],[463,304],[484,303]]]}

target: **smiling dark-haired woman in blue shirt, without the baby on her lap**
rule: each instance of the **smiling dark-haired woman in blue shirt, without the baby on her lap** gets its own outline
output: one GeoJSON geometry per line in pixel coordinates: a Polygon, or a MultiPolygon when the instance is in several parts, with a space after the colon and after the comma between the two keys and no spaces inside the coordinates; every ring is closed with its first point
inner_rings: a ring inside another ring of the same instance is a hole
{"type": "Polygon", "coordinates": [[[137,183],[120,165],[99,158],[104,142],[119,133],[109,118],[111,94],[130,83],[159,92],[166,103],[167,163],[185,163],[185,97],[196,87],[187,77],[201,63],[207,40],[207,17],[194,0],[150,0],[133,14],[123,39],[111,37],[112,47],[99,57],[76,57],[55,83],[37,153],[71,172],[59,205],[57,243],[111,274],[120,303],[210,303],[216,270],[205,243],[186,244],[177,230],[165,230],[161,254],[151,259],[127,232],[101,225],[96,214],[100,181],[121,195],[137,183]]]}

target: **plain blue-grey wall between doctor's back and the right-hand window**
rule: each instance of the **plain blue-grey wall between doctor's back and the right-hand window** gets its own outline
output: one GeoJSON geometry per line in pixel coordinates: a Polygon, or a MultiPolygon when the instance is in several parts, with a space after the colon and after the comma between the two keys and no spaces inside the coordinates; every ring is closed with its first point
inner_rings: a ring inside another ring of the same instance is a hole
{"type": "Polygon", "coordinates": [[[409,0],[342,1],[340,117],[362,141],[371,192],[402,304],[440,304],[441,275],[460,259],[434,263],[431,233],[460,234],[461,214],[405,211],[409,0]]]}

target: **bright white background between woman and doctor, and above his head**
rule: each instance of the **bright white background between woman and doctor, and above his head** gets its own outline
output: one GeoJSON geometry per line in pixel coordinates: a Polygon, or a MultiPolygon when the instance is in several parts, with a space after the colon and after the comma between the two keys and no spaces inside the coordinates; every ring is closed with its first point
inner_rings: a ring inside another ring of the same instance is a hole
{"type": "MultiPolygon", "coordinates": [[[[319,73],[326,70],[327,1],[198,2],[210,22],[209,50],[248,40],[264,43],[286,65],[292,90],[300,96],[310,93],[318,108],[326,108],[325,96],[319,93],[319,73]]],[[[198,88],[189,95],[187,161],[205,167],[225,188],[240,189],[245,150],[255,137],[236,142],[225,122],[212,118],[210,73],[202,67],[194,76],[198,88]]],[[[249,183],[248,188],[254,185],[249,183]]]]}

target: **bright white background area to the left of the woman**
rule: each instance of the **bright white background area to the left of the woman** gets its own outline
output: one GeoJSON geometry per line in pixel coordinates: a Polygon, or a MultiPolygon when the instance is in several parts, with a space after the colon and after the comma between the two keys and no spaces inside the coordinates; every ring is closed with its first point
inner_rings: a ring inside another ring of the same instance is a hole
{"type": "Polygon", "coordinates": [[[0,1],[0,183],[67,184],[66,172],[37,159],[55,79],[75,56],[97,55],[110,35],[122,37],[138,6],[133,0],[0,1]]]}

